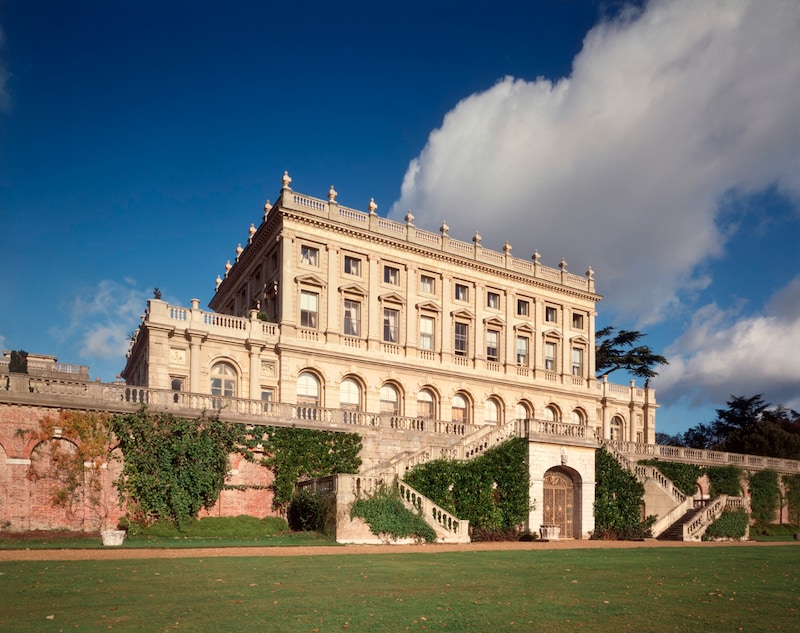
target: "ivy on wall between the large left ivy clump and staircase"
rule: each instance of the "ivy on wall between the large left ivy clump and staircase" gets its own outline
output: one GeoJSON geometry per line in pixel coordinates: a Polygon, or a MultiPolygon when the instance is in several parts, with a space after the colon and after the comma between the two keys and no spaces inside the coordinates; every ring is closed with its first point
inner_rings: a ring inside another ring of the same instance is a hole
{"type": "Polygon", "coordinates": [[[264,447],[261,465],[275,474],[273,508],[283,509],[292,499],[295,483],[302,478],[357,473],[361,466],[361,436],[297,427],[259,428],[247,440],[248,448],[264,447]]]}

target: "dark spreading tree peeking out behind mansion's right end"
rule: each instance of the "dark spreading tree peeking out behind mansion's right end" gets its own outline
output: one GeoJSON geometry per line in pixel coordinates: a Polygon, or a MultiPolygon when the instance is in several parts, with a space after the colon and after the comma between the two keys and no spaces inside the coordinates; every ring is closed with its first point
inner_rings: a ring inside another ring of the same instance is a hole
{"type": "Polygon", "coordinates": [[[624,369],[632,376],[650,379],[658,375],[655,367],[669,364],[647,345],[637,345],[646,335],[636,330],[617,330],[613,325],[595,334],[595,370],[599,377],[624,369]]]}

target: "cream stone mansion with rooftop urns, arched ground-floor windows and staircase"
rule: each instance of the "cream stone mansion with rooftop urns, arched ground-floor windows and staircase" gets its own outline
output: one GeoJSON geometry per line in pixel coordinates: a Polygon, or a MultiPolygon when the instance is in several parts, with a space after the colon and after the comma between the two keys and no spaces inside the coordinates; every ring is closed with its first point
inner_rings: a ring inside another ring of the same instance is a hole
{"type": "MultiPolygon", "coordinates": [[[[601,297],[591,268],[576,275],[564,260],[547,267],[538,252],[513,255],[508,242],[489,250],[477,233],[471,243],[458,241],[446,223],[438,232],[417,228],[410,212],[404,222],[391,221],[372,200],[366,212],[348,208],[333,187],[326,199],[297,193],[288,174],[281,184],[217,278],[210,310],[198,299],[170,305],[159,293],[148,301],[124,383],[91,383],[87,373],[84,387],[75,387],[80,377],[65,380],[54,364],[44,377],[32,372],[16,398],[13,389],[0,391],[0,481],[18,481],[11,469],[35,450],[14,445],[7,407],[86,408],[87,398],[109,411],[146,402],[194,415],[219,410],[222,419],[252,425],[357,432],[362,472],[335,484],[342,498],[345,489],[354,494],[351,483],[402,480],[424,461],[467,459],[524,437],[532,500],[526,527],[588,538],[597,448],[606,445],[632,470],[636,455],[658,448],[654,390],[596,378],[601,297]]],[[[709,458],[695,453],[668,456],[709,458]]],[[[248,468],[234,460],[230,480],[252,489],[231,486],[212,513],[269,513],[265,486],[253,485],[259,476],[248,468]]],[[[647,481],[643,511],[659,517],[657,533],[692,506],[654,469],[637,474],[647,481]]],[[[30,517],[43,501],[14,510],[25,502],[12,496],[0,500],[0,521],[34,527],[30,517]]],[[[436,508],[431,515],[441,540],[468,538],[457,517],[436,508]]],[[[709,517],[684,536],[696,536],[709,517]]],[[[337,538],[369,540],[356,528],[337,530],[337,538]]]]}

